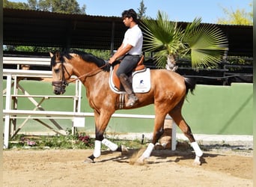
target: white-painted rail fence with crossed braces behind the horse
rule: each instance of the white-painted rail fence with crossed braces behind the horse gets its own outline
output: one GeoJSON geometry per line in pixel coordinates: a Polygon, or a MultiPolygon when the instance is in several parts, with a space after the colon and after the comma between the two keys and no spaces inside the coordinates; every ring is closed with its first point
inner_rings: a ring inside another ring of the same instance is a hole
{"type": "MultiPolygon", "coordinates": [[[[3,70],[3,76],[6,77],[7,83],[6,88],[3,91],[5,96],[5,108],[4,113],[4,148],[8,148],[9,138],[15,136],[22,126],[25,125],[28,119],[34,119],[40,122],[43,126],[51,129],[52,131],[65,135],[66,132],[62,129],[55,119],[72,119],[73,127],[85,125],[85,117],[93,117],[94,113],[90,112],[81,112],[81,98],[82,98],[82,83],[76,81],[76,91],[74,96],[46,96],[46,95],[31,95],[28,91],[25,91],[19,81],[22,78],[28,77],[37,77],[37,78],[51,78],[51,71],[40,71],[40,70],[19,70],[19,65],[43,65],[49,66],[49,58],[7,58],[4,57],[4,64],[16,64],[18,70],[3,70]],[[13,94],[11,93],[13,88],[13,94]],[[23,95],[18,95],[17,91],[22,91],[23,95]],[[16,108],[16,102],[19,97],[27,97],[34,104],[33,110],[19,110],[16,108]],[[37,102],[34,98],[40,97],[40,102],[37,102]],[[45,99],[49,98],[70,98],[73,99],[73,111],[46,111],[42,106],[42,102],[45,99]],[[12,107],[13,106],[13,107],[12,107]],[[17,118],[25,118],[24,122],[16,129],[16,123],[10,123],[10,120],[13,119],[15,122],[17,118]],[[52,129],[51,126],[44,123],[40,119],[49,119],[58,130],[52,129]]],[[[125,117],[125,118],[141,118],[141,119],[154,119],[154,115],[140,115],[140,114],[113,114],[112,117],[125,117]]],[[[171,120],[171,117],[166,117],[167,120],[171,120]]],[[[172,126],[172,135],[171,135],[171,149],[176,149],[176,125],[172,126]]]]}

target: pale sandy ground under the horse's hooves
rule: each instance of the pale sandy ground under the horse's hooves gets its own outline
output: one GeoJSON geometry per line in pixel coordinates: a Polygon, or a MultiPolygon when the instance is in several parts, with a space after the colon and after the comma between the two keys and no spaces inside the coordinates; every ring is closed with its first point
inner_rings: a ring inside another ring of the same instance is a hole
{"type": "Polygon", "coordinates": [[[130,165],[129,153],[93,150],[4,150],[3,186],[253,186],[252,154],[204,151],[193,166],[190,150],[153,150],[146,165],[130,165]]]}

